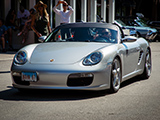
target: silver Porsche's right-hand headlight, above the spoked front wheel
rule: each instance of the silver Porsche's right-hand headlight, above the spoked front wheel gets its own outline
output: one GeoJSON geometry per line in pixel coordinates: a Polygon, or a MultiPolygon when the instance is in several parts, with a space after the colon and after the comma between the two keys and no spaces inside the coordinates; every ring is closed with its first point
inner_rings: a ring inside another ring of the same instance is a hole
{"type": "Polygon", "coordinates": [[[84,60],[83,60],[83,65],[89,66],[89,65],[95,65],[98,64],[102,59],[102,53],[100,52],[94,52],[88,55],[84,60]]]}

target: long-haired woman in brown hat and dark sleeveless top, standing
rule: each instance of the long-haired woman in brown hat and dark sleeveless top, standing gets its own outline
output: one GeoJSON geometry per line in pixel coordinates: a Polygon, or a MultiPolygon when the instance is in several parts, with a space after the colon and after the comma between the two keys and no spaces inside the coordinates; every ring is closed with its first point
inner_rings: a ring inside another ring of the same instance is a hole
{"type": "Polygon", "coordinates": [[[35,43],[38,43],[38,38],[41,36],[47,36],[51,33],[51,27],[49,22],[49,14],[47,13],[47,5],[42,1],[39,1],[34,8],[36,9],[35,15],[31,20],[31,28],[35,32],[35,43]]]}

